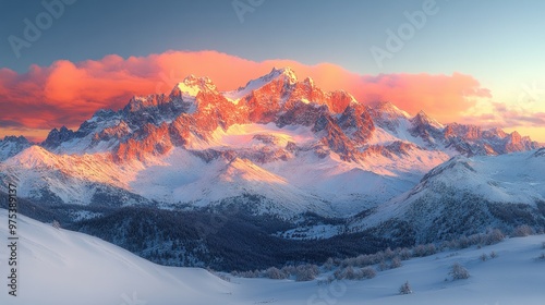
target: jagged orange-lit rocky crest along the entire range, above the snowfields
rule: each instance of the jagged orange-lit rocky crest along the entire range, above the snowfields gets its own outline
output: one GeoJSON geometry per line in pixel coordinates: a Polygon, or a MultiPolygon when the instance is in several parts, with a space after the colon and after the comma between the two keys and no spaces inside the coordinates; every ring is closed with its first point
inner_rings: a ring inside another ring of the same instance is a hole
{"type": "MultiPolygon", "coordinates": [[[[69,154],[107,149],[122,162],[125,158],[142,159],[149,154],[166,154],[172,147],[185,147],[191,138],[208,142],[218,129],[227,131],[237,124],[269,123],[280,129],[311,127],[316,137],[313,149],[317,156],[334,151],[347,161],[373,154],[385,157],[409,154],[417,145],[405,138],[407,133],[421,138],[416,142],[423,149],[451,149],[465,156],[501,155],[540,147],[516,132],[507,134],[499,129],[482,130],[457,123],[443,126],[422,111],[410,118],[390,102],[363,106],[348,93],[323,91],[311,78],[299,82],[290,69],[274,69],[230,93],[218,91],[207,77],[190,75],[170,95],[134,97],[117,112],[99,110],[76,132],[64,126],[52,130],[43,146],[63,152],[63,144],[75,143],[76,148],[71,148],[69,154]],[[401,141],[368,144],[377,129],[401,141]]],[[[293,143],[282,151],[244,154],[268,162],[290,158],[298,149],[293,143]]]]}

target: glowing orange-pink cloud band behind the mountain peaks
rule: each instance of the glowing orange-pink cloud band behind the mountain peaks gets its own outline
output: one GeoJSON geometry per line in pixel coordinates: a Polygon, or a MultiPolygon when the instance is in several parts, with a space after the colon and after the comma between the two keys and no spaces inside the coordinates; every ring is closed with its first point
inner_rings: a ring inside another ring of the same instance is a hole
{"type": "Polygon", "coordinates": [[[168,51],[128,59],[111,54],[100,60],[33,65],[23,74],[1,69],[0,134],[8,129],[77,127],[96,110],[120,109],[134,95],[169,93],[189,74],[208,76],[220,90],[231,90],[275,66],[291,66],[299,78],[311,76],[323,89],[347,90],[364,103],[389,100],[413,114],[425,110],[439,121],[453,121],[476,98],[491,96],[475,78],[458,73],[371,76],[330,63],[255,62],[217,51],[168,51]]]}

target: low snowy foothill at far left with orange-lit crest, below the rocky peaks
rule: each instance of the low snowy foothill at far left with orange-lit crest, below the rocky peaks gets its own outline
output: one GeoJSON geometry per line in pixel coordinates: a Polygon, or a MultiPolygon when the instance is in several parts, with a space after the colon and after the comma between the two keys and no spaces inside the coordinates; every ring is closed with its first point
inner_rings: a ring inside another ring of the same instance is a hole
{"type": "Polygon", "coordinates": [[[56,155],[34,145],[0,163],[0,181],[2,190],[14,182],[20,196],[50,204],[98,204],[106,196],[117,197],[116,206],[131,205],[147,202],[126,184],[143,168],[137,161],[118,166],[109,154],[56,155]]]}

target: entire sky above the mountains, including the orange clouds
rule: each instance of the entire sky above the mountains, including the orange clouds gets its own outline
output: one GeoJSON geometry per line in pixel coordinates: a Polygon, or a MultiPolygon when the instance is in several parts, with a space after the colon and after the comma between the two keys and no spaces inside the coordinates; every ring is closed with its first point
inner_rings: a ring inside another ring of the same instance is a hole
{"type": "Polygon", "coordinates": [[[41,141],[189,74],[293,68],[361,102],[545,142],[540,0],[0,0],[0,137],[41,141]]]}

